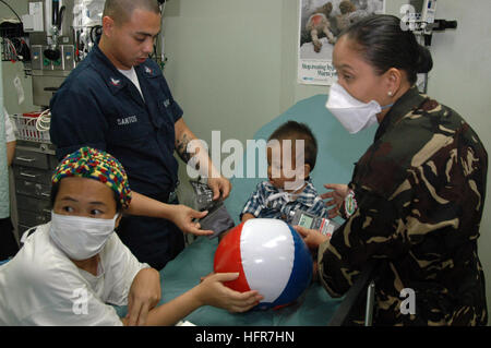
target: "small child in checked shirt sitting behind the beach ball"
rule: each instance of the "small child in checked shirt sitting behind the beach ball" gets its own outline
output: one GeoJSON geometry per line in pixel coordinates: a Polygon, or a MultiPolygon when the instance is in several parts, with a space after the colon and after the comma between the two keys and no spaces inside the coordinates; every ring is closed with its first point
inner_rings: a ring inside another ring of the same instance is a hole
{"type": "Polygon", "coordinates": [[[318,142],[309,127],[295,121],[280,125],[268,139],[268,180],[258,184],[240,219],[279,218],[291,224],[297,209],[327,218],[326,205],[309,177],[316,156],[318,142]]]}

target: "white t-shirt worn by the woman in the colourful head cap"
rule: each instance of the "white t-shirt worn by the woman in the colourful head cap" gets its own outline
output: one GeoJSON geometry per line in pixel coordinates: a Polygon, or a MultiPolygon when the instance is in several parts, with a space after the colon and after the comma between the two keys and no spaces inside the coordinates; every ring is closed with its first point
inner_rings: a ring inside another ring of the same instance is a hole
{"type": "Polygon", "coordinates": [[[38,226],[0,266],[0,325],[122,325],[107,303],[125,305],[134,277],[148,265],[112,233],[94,276],[52,243],[50,226],[38,226]]]}

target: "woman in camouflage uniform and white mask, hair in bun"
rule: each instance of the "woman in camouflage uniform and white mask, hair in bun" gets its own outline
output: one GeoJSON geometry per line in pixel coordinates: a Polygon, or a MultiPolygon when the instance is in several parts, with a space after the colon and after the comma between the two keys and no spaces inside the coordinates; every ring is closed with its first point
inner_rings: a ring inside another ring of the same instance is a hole
{"type": "MultiPolygon", "coordinates": [[[[336,43],[333,63],[338,82],[327,109],[349,133],[379,128],[349,184],[325,185],[331,217],[340,214],[345,224],[331,240],[297,228],[319,248],[319,278],[343,296],[376,261],[375,325],[486,325],[477,239],[488,155],[478,135],[455,110],[418,92],[417,73],[429,72],[432,59],[396,16],[354,24],[336,43]]],[[[364,305],[350,321],[363,317],[364,305]]]]}

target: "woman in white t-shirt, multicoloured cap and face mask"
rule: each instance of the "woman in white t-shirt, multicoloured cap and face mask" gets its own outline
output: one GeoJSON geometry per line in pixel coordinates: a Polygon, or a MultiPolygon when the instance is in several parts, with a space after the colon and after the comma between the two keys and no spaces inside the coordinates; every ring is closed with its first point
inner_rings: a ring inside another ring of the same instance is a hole
{"type": "Polygon", "coordinates": [[[67,156],[51,200],[51,221],[26,231],[21,251],[0,266],[0,325],[172,325],[204,304],[246,311],[261,300],[221,284],[238,274],[214,274],[157,307],[158,272],[113,232],[131,191],[107,153],[83,147],[67,156]],[[108,303],[128,304],[128,315],[120,319],[108,303]]]}

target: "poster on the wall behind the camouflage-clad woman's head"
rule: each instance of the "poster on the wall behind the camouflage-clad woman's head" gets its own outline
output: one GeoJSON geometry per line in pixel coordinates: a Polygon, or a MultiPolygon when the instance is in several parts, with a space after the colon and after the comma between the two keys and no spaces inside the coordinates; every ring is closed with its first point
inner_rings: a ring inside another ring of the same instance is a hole
{"type": "Polygon", "coordinates": [[[385,13],[385,0],[300,0],[298,81],[332,85],[337,36],[357,20],[385,13]]]}

